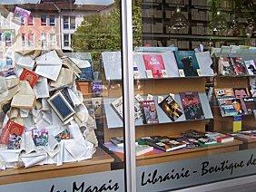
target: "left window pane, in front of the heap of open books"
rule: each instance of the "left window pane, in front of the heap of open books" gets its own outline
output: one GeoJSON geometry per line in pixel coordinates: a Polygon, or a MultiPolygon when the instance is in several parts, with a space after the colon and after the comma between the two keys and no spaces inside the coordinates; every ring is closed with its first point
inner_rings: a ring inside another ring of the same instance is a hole
{"type": "Polygon", "coordinates": [[[0,1],[0,191],[124,190],[120,14],[0,1]]]}

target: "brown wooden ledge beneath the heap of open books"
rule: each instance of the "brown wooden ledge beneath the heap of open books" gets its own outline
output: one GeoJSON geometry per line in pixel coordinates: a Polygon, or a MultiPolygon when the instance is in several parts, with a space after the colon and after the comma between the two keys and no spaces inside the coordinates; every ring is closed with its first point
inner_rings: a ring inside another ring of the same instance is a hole
{"type": "Polygon", "coordinates": [[[62,166],[44,165],[32,168],[8,168],[0,171],[0,185],[18,182],[61,178],[111,170],[113,158],[97,148],[93,158],[80,162],[64,163],[62,166]]]}

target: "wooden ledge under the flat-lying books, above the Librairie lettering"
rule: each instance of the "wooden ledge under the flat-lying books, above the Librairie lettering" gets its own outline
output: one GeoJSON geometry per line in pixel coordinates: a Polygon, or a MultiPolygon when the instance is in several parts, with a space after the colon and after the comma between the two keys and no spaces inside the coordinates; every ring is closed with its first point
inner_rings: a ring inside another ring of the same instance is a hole
{"type": "MultiPolygon", "coordinates": [[[[204,148],[196,149],[177,149],[171,152],[164,152],[160,150],[155,150],[149,152],[145,155],[136,157],[137,166],[153,165],[159,163],[170,162],[174,160],[189,159],[189,158],[199,158],[202,156],[209,156],[212,154],[220,154],[238,151],[239,146],[242,144],[242,141],[234,139],[231,142],[212,145],[204,148]]],[[[114,162],[123,163],[123,154],[122,153],[113,153],[109,151],[110,155],[115,158],[114,162]]]]}

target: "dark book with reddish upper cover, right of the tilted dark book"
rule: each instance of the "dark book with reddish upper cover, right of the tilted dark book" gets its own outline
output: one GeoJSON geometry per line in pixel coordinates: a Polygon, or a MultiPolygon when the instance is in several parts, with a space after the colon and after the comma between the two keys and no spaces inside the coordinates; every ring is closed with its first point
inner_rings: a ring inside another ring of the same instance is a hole
{"type": "Polygon", "coordinates": [[[202,120],[205,118],[198,92],[181,92],[180,96],[186,120],[202,120]]]}

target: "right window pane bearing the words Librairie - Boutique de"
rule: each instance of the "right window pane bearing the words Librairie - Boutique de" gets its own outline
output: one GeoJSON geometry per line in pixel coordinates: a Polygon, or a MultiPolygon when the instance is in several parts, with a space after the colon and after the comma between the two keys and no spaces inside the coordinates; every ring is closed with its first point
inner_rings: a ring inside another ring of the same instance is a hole
{"type": "Polygon", "coordinates": [[[255,174],[223,168],[254,153],[255,11],[255,1],[133,0],[138,191],[255,174]]]}

